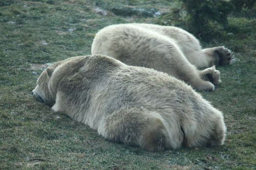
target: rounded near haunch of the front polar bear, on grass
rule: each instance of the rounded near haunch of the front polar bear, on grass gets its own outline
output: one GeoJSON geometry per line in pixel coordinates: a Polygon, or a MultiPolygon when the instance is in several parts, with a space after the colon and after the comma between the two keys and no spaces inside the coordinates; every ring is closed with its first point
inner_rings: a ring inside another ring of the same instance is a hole
{"type": "Polygon", "coordinates": [[[167,133],[161,116],[144,109],[122,109],[107,116],[98,128],[105,138],[148,151],[167,148],[167,133]]]}

